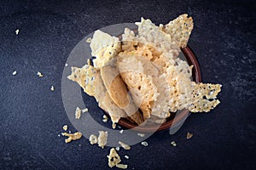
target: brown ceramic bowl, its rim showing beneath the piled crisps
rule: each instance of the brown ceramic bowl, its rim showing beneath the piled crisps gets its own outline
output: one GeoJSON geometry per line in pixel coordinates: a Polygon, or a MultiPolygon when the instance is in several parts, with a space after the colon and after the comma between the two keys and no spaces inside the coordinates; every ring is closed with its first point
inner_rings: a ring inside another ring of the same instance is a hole
{"type": "MultiPolygon", "coordinates": [[[[193,70],[192,70],[192,77],[193,81],[195,82],[201,82],[201,71],[200,71],[200,66],[198,64],[197,59],[195,58],[195,54],[191,50],[191,48],[186,47],[186,48],[181,48],[182,53],[184,57],[187,59],[189,65],[194,65],[193,70]]],[[[136,131],[140,132],[159,132],[163,131],[166,129],[170,128],[175,128],[178,125],[181,125],[186,118],[189,116],[189,110],[183,110],[180,111],[177,115],[177,113],[173,113],[170,118],[167,119],[166,122],[162,124],[150,124],[150,125],[145,125],[145,126],[137,126],[137,124],[134,124],[132,122],[129,122],[128,120],[121,118],[119,120],[119,125],[129,128],[129,129],[134,129],[136,131]]]]}

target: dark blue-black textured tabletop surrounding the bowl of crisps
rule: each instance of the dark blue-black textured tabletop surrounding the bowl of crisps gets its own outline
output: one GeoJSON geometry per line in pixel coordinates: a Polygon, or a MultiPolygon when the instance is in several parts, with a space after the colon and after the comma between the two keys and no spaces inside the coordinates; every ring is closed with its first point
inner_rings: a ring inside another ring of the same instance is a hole
{"type": "Polygon", "coordinates": [[[160,24],[183,13],[195,22],[189,46],[202,81],[223,84],[222,103],[210,113],[192,114],[172,136],[155,133],[147,148],[121,150],[130,156],[123,163],[129,169],[255,169],[256,3],[238,2],[2,0],[0,169],[108,169],[108,147],[85,138],[65,144],[58,137],[64,124],[75,131],[61,100],[66,59],[84,36],[103,26],[142,16],[160,24]],[[195,134],[190,140],[188,131],[195,134]]]}

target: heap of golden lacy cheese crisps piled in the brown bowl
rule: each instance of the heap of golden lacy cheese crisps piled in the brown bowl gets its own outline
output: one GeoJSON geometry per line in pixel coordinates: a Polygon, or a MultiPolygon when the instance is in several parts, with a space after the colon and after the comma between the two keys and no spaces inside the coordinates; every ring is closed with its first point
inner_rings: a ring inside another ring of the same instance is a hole
{"type": "Polygon", "coordinates": [[[137,32],[125,28],[121,39],[95,31],[93,59],[82,68],[73,66],[68,77],[96,98],[113,128],[121,117],[137,124],[163,123],[172,112],[207,112],[220,103],[221,85],[191,81],[193,65],[178,58],[194,26],[188,14],[166,25],[143,18],[136,25],[137,32]]]}

